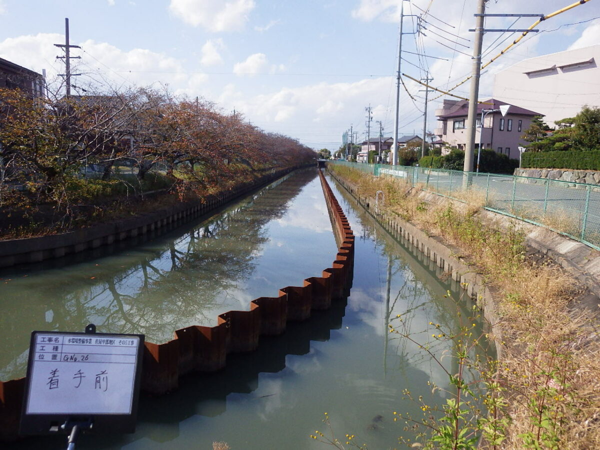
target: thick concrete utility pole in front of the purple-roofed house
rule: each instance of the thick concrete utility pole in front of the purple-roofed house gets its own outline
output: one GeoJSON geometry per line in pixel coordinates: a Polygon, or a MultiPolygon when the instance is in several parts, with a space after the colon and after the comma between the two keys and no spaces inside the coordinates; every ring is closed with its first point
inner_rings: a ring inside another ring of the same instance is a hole
{"type": "Polygon", "coordinates": [[[477,116],[477,101],[479,97],[479,76],[481,75],[481,47],[484,40],[485,2],[478,0],[475,42],[473,43],[473,66],[471,69],[471,88],[469,92],[469,115],[467,116],[467,145],[464,149],[464,172],[473,170],[473,152],[475,149],[475,125],[477,116]]]}

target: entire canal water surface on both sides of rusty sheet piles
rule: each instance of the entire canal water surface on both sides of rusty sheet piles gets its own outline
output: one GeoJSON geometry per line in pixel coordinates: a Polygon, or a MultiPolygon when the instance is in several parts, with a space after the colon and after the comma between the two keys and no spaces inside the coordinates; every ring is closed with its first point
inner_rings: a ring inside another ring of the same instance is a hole
{"type": "MultiPolygon", "coordinates": [[[[80,449],[232,450],[328,448],[309,438],[355,434],[370,449],[398,446],[406,436],[394,411],[420,412],[403,389],[442,403],[427,382],[447,386],[446,374],[418,346],[388,333],[403,314],[413,337],[442,356],[450,345],[431,338],[429,322],[460,326],[448,280],[373,217],[332,179],[329,184],[356,235],[350,296],[331,310],[261,337],[256,352],[227,356],[217,373],[192,374],[169,395],[140,399],[137,431],[83,436],[80,449]]],[[[29,332],[141,332],[162,342],[176,328],[214,325],[217,315],[247,309],[251,299],[331,266],[337,247],[316,170],[297,172],[212,217],[139,247],[31,271],[2,272],[0,379],[23,376],[29,332]]],[[[458,298],[459,292],[452,292],[458,298]]],[[[397,325],[397,323],[396,323],[397,325]]],[[[64,438],[30,438],[7,448],[62,448],[64,438]]]]}

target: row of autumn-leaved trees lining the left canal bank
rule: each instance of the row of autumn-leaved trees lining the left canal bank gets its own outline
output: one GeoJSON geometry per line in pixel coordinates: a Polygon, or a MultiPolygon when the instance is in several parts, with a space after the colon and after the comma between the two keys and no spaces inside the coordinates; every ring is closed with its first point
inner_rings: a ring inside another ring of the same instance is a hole
{"type": "Polygon", "coordinates": [[[203,99],[155,88],[88,92],[0,89],[0,238],[143,212],[148,191],[169,193],[168,204],[317,157],[203,99]]]}

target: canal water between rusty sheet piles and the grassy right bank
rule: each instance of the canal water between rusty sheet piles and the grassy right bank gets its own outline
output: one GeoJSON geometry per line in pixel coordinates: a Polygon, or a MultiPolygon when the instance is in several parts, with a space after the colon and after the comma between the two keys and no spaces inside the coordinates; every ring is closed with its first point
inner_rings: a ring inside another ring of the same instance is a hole
{"type": "MultiPolygon", "coordinates": [[[[223,371],[191,374],[173,394],[144,397],[135,434],[88,436],[80,448],[210,449],[212,442],[226,441],[233,450],[317,450],[327,447],[308,436],[325,431],[325,412],[337,437],[352,433],[369,448],[395,448],[397,437],[407,434],[392,412],[421,412],[401,401],[403,389],[430,403],[445,401],[427,386],[447,387],[445,372],[415,344],[389,335],[387,325],[403,314],[415,338],[441,355],[449,345],[431,341],[428,323],[450,331],[460,324],[457,305],[444,297],[451,284],[331,185],[360,236],[347,302],[290,323],[281,336],[261,337],[256,352],[228,356],[223,371]]],[[[461,311],[469,306],[463,302],[461,311]]],[[[13,448],[37,448],[39,442],[13,448]]],[[[63,441],[48,442],[58,447],[63,441]]]]}

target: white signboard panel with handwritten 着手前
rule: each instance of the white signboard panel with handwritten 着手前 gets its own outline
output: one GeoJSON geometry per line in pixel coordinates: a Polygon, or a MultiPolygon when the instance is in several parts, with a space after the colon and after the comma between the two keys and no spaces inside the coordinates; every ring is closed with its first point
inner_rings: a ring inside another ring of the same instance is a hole
{"type": "Polygon", "coordinates": [[[140,337],[34,332],[25,413],[131,414],[140,337]]]}

